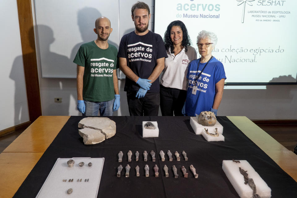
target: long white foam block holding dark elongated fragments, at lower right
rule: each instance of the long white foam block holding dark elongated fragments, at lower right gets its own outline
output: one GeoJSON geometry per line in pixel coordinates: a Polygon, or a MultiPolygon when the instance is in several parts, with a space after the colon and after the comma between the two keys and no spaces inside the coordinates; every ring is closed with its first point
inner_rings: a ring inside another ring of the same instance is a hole
{"type": "Polygon", "coordinates": [[[261,198],[271,197],[271,189],[267,183],[260,177],[260,175],[254,170],[254,168],[246,160],[239,160],[240,163],[236,163],[232,160],[223,160],[222,169],[224,170],[227,178],[232,186],[241,198],[252,198],[253,190],[248,184],[244,184],[243,175],[239,172],[239,167],[245,171],[248,171],[248,178],[254,180],[256,185],[257,194],[261,198]]]}

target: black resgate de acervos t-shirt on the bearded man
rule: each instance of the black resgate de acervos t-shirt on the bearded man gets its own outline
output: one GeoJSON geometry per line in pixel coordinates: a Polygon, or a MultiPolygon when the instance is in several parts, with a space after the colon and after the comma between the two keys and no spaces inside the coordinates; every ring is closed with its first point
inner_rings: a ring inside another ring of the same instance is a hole
{"type": "MultiPolygon", "coordinates": [[[[134,31],[125,34],[120,42],[118,57],[127,59],[127,66],[140,78],[148,79],[157,65],[158,58],[167,58],[162,37],[149,31],[143,36],[134,31]]],[[[124,91],[137,91],[138,84],[126,77],[124,91]]],[[[153,82],[148,92],[159,92],[159,78],[153,82]]]]}

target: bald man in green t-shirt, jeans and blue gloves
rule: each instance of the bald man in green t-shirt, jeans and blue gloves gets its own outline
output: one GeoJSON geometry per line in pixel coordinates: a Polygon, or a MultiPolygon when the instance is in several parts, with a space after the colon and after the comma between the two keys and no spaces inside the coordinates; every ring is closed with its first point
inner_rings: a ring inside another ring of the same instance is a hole
{"type": "Polygon", "coordinates": [[[112,116],[120,106],[118,92],[118,50],[108,43],[110,20],[96,19],[97,39],[80,46],[73,62],[77,64],[77,110],[84,116],[112,116]]]}

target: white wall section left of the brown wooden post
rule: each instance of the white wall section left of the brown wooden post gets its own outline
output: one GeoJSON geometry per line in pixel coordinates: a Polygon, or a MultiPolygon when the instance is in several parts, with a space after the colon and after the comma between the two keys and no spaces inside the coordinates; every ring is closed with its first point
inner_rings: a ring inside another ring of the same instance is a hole
{"type": "Polygon", "coordinates": [[[29,121],[16,0],[0,1],[0,131],[29,121]]]}

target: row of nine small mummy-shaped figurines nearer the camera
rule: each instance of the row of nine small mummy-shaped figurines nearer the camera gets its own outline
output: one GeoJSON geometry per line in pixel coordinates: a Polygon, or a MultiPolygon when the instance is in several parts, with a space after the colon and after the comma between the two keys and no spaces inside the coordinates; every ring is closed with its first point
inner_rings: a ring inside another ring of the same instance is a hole
{"type": "MultiPolygon", "coordinates": [[[[131,167],[129,166],[129,164],[127,164],[127,166],[125,167],[126,177],[129,177],[130,168],[131,167]]],[[[136,177],[139,177],[140,176],[139,166],[136,166],[135,169],[136,169],[136,177]]],[[[159,168],[158,168],[157,164],[155,164],[153,169],[154,169],[154,172],[155,172],[155,177],[159,177],[159,168]]],[[[123,166],[122,165],[118,166],[117,177],[121,177],[122,170],[123,170],[123,166]]],[[[146,164],[144,166],[144,170],[145,170],[145,177],[149,177],[149,165],[146,164]]],[[[165,171],[165,177],[169,177],[168,167],[166,165],[164,165],[163,170],[165,171]]],[[[172,170],[173,170],[173,173],[174,173],[174,178],[178,178],[179,175],[177,174],[177,168],[174,165],[172,166],[172,170]]],[[[183,177],[187,178],[188,177],[187,169],[184,166],[182,166],[181,170],[183,172],[183,177]]],[[[190,166],[190,170],[194,174],[194,177],[198,178],[198,174],[196,173],[196,169],[194,168],[194,166],[192,164],[190,166]]]]}

